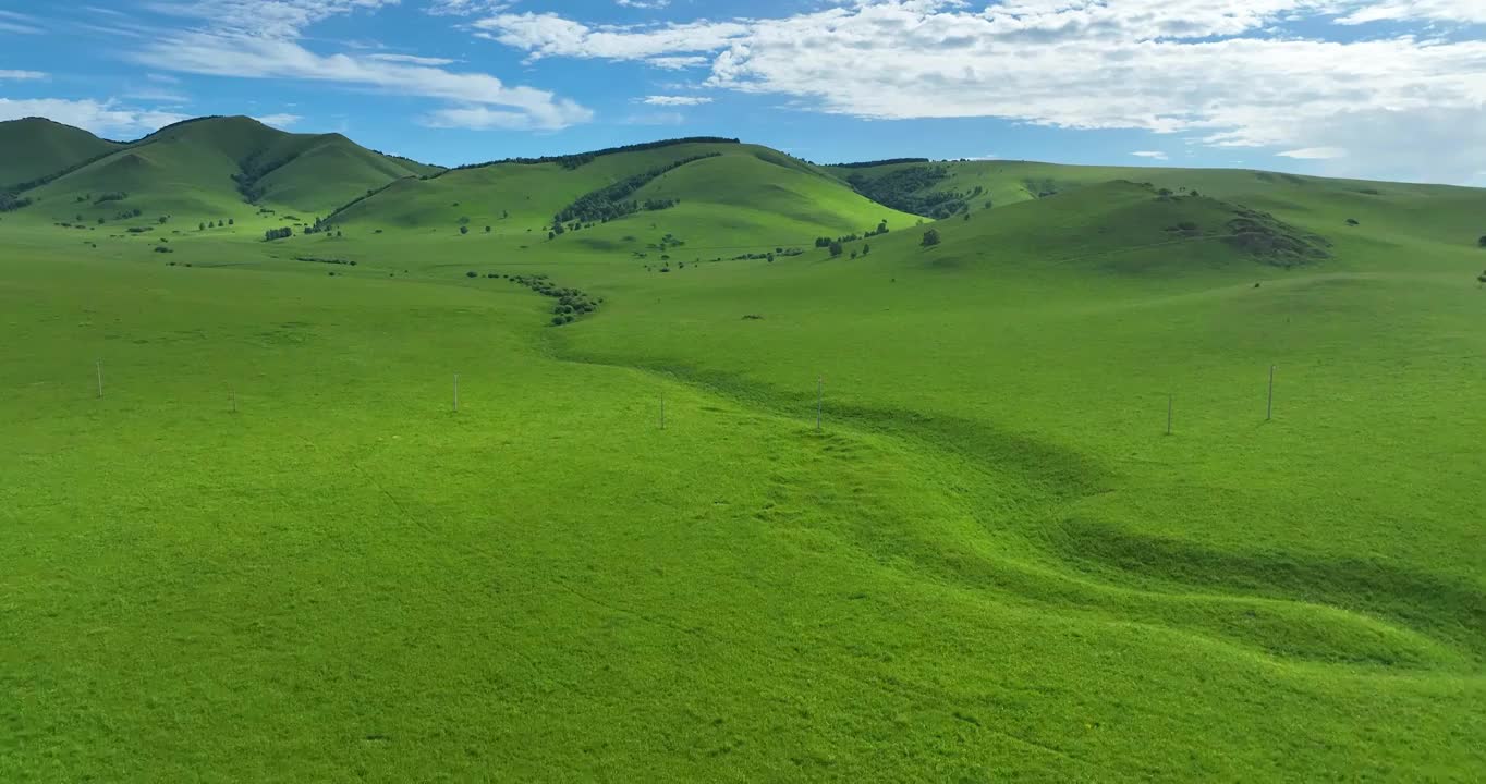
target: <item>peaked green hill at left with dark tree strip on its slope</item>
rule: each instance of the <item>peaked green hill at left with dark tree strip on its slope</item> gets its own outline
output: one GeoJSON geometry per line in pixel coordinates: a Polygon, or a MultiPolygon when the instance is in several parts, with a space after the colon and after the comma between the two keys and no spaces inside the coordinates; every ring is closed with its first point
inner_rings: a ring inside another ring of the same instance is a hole
{"type": "Polygon", "coordinates": [[[113,220],[140,208],[144,220],[169,215],[177,224],[233,217],[251,220],[235,175],[248,163],[269,168],[256,183],[259,203],[308,215],[336,206],[397,178],[429,168],[382,156],[339,134],[285,134],[248,117],[212,117],[162,129],[27,195],[39,205],[22,215],[83,223],[113,220]],[[79,203],[79,196],[126,192],[128,199],[79,203]]]}

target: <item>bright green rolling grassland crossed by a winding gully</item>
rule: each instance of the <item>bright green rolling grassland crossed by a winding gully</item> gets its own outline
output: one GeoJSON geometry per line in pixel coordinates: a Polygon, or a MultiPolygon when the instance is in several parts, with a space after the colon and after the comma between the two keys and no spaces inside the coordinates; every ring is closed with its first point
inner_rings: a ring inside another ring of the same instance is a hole
{"type": "Polygon", "coordinates": [[[315,160],[278,242],[226,166],[0,215],[0,780],[1486,769],[1486,193],[950,163],[996,206],[918,227],[681,144],[337,212],[315,160]]]}

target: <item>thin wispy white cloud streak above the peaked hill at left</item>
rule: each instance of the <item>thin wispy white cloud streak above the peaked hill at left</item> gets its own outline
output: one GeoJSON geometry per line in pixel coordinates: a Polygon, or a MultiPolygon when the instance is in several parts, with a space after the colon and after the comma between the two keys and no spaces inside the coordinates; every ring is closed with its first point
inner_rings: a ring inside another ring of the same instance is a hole
{"type": "Polygon", "coordinates": [[[449,61],[413,55],[321,55],[300,45],[302,30],[337,13],[377,9],[397,0],[196,0],[158,1],[152,7],[205,21],[201,30],[152,39],[134,52],[134,59],[152,68],[238,79],[288,79],[324,82],[449,101],[450,107],[431,117],[480,114],[486,126],[559,129],[583,123],[593,113],[551,92],[507,85],[484,73],[441,68],[449,61]],[[470,107],[477,107],[471,110],[470,107]],[[492,110],[487,107],[499,107],[492,110]],[[511,120],[516,114],[522,119],[511,120]]]}

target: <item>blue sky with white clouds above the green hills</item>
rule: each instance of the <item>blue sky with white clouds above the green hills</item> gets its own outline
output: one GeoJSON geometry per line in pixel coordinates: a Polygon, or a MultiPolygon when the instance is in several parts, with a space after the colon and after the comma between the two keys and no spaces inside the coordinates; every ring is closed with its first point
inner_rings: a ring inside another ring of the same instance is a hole
{"type": "Polygon", "coordinates": [[[727,135],[1486,186],[1483,39],[1483,0],[0,0],[0,119],[251,114],[444,165],[727,135]]]}

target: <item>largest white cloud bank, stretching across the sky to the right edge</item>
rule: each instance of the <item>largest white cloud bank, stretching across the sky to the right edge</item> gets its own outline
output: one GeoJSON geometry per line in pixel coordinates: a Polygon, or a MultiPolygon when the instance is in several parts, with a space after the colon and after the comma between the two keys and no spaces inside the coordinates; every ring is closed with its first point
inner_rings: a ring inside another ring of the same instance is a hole
{"type": "MultiPolygon", "coordinates": [[[[1346,172],[1369,174],[1383,169],[1398,140],[1343,134],[1336,119],[1486,120],[1486,42],[1431,27],[1482,16],[1482,0],[854,0],[773,19],[590,27],[504,13],[474,27],[531,58],[669,67],[707,58],[712,88],[826,113],[1184,132],[1217,147],[1343,147],[1346,172]],[[1379,13],[1412,27],[1357,40],[1337,25],[1379,13]],[[1303,36],[1287,27],[1296,21],[1303,36]],[[1328,138],[1336,135],[1351,141],[1328,138]]],[[[1431,154],[1462,163],[1483,144],[1452,137],[1431,154]]]]}

